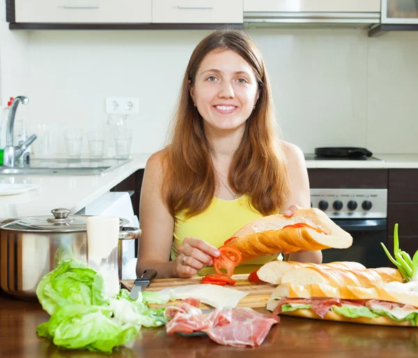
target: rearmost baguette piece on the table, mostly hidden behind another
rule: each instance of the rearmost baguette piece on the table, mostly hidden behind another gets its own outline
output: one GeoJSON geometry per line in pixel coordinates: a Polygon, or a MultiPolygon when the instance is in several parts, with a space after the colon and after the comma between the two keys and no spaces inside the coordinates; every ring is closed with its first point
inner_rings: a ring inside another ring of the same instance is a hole
{"type": "Polygon", "coordinates": [[[341,270],[366,270],[361,263],[355,263],[351,261],[341,261],[335,263],[323,263],[318,265],[316,263],[298,263],[295,261],[280,261],[274,260],[270,263],[266,263],[261,266],[257,271],[257,276],[262,281],[268,283],[274,283],[279,285],[281,283],[281,277],[284,274],[301,267],[323,267],[324,269],[341,269],[341,270]]]}

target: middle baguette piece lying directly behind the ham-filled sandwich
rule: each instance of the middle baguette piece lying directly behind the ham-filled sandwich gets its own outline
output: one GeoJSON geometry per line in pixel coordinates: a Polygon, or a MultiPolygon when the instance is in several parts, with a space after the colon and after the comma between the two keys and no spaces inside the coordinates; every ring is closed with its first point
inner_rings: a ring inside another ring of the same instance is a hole
{"type": "Polygon", "coordinates": [[[387,282],[403,282],[401,273],[391,267],[379,267],[366,270],[338,270],[325,269],[322,265],[301,267],[287,272],[281,277],[281,283],[309,285],[311,283],[325,283],[334,287],[357,286],[371,288],[387,282]]]}

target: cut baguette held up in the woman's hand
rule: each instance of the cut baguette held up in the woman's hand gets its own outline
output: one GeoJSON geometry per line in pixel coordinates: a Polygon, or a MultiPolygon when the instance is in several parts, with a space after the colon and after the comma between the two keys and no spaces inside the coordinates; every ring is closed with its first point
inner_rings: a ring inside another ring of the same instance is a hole
{"type": "Polygon", "coordinates": [[[242,262],[281,251],[346,249],[353,238],[316,208],[300,209],[292,217],[270,215],[249,222],[226,240],[238,249],[242,262]]]}

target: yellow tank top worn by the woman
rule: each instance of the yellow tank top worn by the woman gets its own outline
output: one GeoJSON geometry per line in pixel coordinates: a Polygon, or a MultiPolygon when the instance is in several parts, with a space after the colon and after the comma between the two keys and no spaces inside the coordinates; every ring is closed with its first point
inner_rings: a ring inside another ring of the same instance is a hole
{"type": "MultiPolygon", "coordinates": [[[[177,248],[187,237],[198,238],[215,247],[220,247],[242,226],[258,217],[263,217],[263,215],[252,207],[247,195],[235,200],[213,198],[212,203],[204,212],[189,219],[185,217],[185,212],[180,212],[176,215],[174,224],[171,259],[177,258],[177,248]]],[[[277,256],[268,255],[247,261],[236,267],[234,273],[250,273],[275,259],[277,256]]],[[[210,266],[198,272],[200,276],[212,273],[215,273],[215,270],[210,266]]]]}

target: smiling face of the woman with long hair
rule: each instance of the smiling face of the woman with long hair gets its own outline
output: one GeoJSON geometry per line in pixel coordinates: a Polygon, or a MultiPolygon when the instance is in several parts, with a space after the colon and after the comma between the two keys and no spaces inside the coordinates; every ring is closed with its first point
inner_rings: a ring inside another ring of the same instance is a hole
{"type": "Polygon", "coordinates": [[[229,49],[206,55],[190,89],[204,127],[211,131],[244,127],[258,94],[251,66],[229,49]]]}

